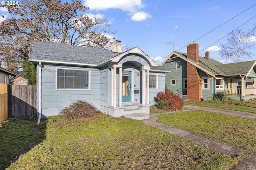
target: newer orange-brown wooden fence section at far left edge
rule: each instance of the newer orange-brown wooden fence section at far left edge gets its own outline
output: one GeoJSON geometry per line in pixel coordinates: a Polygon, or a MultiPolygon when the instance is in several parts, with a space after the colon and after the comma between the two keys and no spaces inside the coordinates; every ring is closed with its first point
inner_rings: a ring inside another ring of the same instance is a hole
{"type": "Polygon", "coordinates": [[[8,84],[0,84],[0,124],[8,119],[8,84]]]}

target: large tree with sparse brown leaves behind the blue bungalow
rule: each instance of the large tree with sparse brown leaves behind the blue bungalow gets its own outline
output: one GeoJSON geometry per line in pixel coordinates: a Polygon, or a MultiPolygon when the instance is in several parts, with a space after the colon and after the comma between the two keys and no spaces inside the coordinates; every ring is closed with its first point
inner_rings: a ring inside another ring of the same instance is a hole
{"type": "Polygon", "coordinates": [[[7,8],[12,18],[0,23],[0,59],[14,71],[20,65],[20,49],[32,49],[34,42],[54,41],[70,45],[105,48],[110,33],[108,20],[89,18],[81,1],[19,0],[7,8]],[[14,63],[12,63],[14,62],[14,63]],[[15,67],[12,67],[10,64],[15,67]]]}

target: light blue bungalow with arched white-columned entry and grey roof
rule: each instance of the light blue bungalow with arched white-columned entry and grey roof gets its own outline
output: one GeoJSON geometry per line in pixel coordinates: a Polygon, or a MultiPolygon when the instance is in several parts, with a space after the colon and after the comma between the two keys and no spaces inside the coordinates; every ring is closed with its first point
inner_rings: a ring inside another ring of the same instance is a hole
{"type": "Polygon", "coordinates": [[[111,51],[35,43],[30,61],[37,63],[39,116],[57,115],[72,102],[85,100],[113,117],[149,118],[169,71],[138,47],[121,49],[120,42],[113,42],[111,51]]]}

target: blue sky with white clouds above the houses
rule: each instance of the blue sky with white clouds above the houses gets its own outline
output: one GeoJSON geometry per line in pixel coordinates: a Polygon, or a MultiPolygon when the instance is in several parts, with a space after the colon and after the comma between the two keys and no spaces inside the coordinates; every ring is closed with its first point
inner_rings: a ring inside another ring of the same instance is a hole
{"type": "MultiPolygon", "coordinates": [[[[111,31],[116,33],[107,35],[108,38],[116,37],[123,47],[139,47],[156,61],[162,58],[164,61],[172,53],[173,43],[175,51],[186,53],[189,43],[252,6],[196,40],[200,56],[210,51],[210,58],[224,63],[218,51],[211,49],[219,47],[220,43],[226,44],[224,36],[245,22],[240,29],[246,32],[256,23],[255,0],[82,0],[82,3],[89,7],[88,16],[109,21],[111,31]]],[[[3,8],[0,8],[0,15],[8,18],[3,8]]]]}

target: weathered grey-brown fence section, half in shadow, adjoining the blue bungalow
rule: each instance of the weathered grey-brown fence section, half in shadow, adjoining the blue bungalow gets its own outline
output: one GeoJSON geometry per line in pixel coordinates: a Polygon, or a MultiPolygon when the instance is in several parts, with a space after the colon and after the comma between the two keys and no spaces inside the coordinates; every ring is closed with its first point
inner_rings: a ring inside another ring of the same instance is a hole
{"type": "Polygon", "coordinates": [[[12,116],[36,115],[36,85],[12,85],[12,116]]]}

